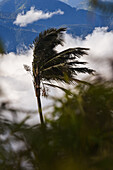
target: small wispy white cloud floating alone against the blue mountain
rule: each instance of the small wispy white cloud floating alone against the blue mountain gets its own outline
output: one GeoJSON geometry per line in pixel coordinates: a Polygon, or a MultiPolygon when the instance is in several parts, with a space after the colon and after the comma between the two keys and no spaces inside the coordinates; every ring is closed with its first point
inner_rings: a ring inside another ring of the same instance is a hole
{"type": "Polygon", "coordinates": [[[27,11],[26,14],[24,12],[19,13],[17,15],[16,20],[13,22],[16,25],[19,25],[20,27],[25,27],[27,24],[31,24],[35,21],[38,21],[40,19],[48,19],[51,18],[53,15],[63,15],[64,12],[60,9],[54,12],[43,12],[41,10],[35,9],[35,7],[31,7],[30,11],[27,11]]]}

